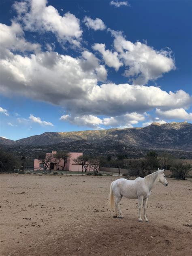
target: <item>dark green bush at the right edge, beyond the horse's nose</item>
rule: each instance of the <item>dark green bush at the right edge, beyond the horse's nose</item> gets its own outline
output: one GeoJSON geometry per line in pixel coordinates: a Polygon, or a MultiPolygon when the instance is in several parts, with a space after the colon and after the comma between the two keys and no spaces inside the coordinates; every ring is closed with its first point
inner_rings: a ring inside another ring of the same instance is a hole
{"type": "Polygon", "coordinates": [[[170,169],[174,178],[185,180],[190,168],[190,164],[178,163],[177,165],[172,166],[170,169]]]}

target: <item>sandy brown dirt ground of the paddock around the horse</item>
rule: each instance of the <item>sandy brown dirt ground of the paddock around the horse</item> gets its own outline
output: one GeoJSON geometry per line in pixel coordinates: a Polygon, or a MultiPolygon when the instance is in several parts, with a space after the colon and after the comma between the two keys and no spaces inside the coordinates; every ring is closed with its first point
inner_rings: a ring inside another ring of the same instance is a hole
{"type": "Polygon", "coordinates": [[[192,255],[192,181],[156,185],[146,223],[126,198],[124,219],[112,217],[106,203],[118,178],[1,174],[0,255],[192,255]]]}

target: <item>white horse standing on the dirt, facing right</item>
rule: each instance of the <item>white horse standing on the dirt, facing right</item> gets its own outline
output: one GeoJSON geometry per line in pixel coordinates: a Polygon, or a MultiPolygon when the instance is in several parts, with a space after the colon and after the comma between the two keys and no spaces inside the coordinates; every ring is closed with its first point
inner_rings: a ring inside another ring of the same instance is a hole
{"type": "Polygon", "coordinates": [[[146,207],[147,200],[151,194],[151,189],[156,185],[156,183],[162,183],[164,186],[168,186],[168,182],[165,179],[164,169],[157,172],[151,173],[145,178],[137,178],[134,181],[127,179],[117,179],[111,183],[110,187],[110,197],[107,204],[114,207],[114,196],[115,196],[115,218],[123,218],[122,211],[119,207],[119,202],[122,197],[129,199],[138,199],[139,200],[139,222],[142,222],[141,219],[141,207],[143,204],[143,215],[146,222],[148,219],[146,217],[146,207]],[[117,215],[117,209],[119,210],[119,215],[117,215]]]}

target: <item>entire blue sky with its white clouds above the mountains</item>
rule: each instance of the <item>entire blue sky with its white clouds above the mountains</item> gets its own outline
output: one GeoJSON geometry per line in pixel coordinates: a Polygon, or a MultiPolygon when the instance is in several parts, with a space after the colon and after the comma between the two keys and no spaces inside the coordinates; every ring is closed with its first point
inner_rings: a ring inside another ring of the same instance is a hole
{"type": "Polygon", "coordinates": [[[0,136],[191,123],[191,10],[190,0],[2,0],[0,136]]]}

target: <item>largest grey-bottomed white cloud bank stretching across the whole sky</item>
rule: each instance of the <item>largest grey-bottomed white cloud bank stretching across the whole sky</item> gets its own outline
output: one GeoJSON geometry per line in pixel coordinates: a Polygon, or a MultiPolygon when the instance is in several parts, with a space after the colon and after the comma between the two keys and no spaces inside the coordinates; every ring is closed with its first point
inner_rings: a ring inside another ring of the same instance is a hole
{"type": "Polygon", "coordinates": [[[94,54],[84,51],[73,58],[57,52],[21,56],[9,52],[0,59],[0,92],[23,95],[62,105],[76,114],[115,116],[188,108],[190,95],[183,90],[167,93],[155,86],[101,84],[107,77],[105,67],[94,54]]]}

